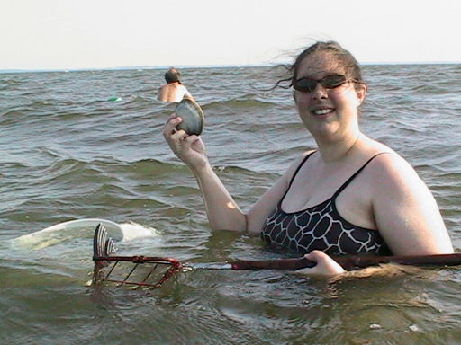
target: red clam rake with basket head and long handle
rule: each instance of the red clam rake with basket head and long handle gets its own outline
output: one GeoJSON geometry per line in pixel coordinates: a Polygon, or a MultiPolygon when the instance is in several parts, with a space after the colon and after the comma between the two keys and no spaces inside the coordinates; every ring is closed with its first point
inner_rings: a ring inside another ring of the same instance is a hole
{"type": "MultiPolygon", "coordinates": [[[[304,257],[279,260],[237,260],[225,263],[182,263],[173,258],[155,256],[115,256],[113,239],[99,224],[93,239],[95,269],[93,284],[112,282],[117,285],[159,288],[181,270],[300,270],[312,268],[316,262],[304,257]]],[[[345,270],[358,270],[383,263],[415,266],[456,266],[461,264],[461,254],[412,256],[335,256],[332,257],[345,270]]]]}

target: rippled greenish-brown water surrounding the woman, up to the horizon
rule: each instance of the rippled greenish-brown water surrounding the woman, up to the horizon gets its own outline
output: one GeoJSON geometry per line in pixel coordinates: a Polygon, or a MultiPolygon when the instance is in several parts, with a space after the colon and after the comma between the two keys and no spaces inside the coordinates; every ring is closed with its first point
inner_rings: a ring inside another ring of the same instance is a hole
{"type": "MultiPolygon", "coordinates": [[[[86,286],[93,226],[118,251],[182,261],[267,259],[258,238],[212,233],[192,173],[161,135],[160,70],[0,75],[0,343],[459,344],[459,268],[327,283],[278,271],[196,270],[157,290],[86,286]],[[120,97],[118,102],[108,101],[120,97]],[[116,235],[116,234],[113,234],[116,235]]],[[[247,209],[314,142],[267,67],[190,68],[217,173],[247,209]]],[[[461,247],[461,67],[365,66],[361,126],[433,191],[461,247]]]]}

